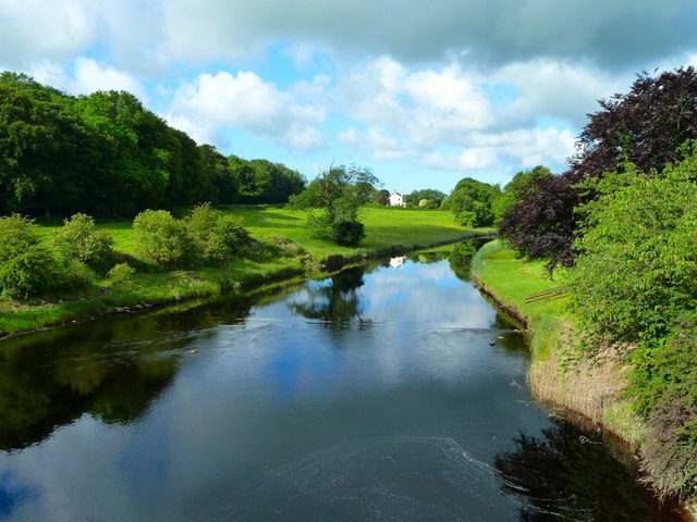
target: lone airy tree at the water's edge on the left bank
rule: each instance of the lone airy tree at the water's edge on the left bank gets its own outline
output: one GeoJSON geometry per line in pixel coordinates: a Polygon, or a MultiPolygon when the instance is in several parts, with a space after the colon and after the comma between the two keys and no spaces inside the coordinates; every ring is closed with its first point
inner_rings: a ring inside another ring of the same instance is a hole
{"type": "Polygon", "coordinates": [[[358,209],[368,201],[378,178],[369,167],[340,165],[320,173],[316,182],[322,213],[310,214],[308,226],[338,245],[358,245],[365,236],[358,209]]]}

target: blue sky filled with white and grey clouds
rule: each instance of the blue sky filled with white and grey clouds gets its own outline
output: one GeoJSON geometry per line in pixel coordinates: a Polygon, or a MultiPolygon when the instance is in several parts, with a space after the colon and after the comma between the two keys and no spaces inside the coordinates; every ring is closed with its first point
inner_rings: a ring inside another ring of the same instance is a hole
{"type": "Polygon", "coordinates": [[[694,0],[0,0],[0,70],[308,179],[449,192],[563,172],[598,100],[697,65],[695,25],[694,0]]]}

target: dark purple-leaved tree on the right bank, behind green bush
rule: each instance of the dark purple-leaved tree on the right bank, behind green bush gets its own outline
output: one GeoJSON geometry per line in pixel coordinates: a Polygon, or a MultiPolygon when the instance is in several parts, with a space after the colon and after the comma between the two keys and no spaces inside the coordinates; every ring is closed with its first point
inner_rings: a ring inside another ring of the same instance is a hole
{"type": "Polygon", "coordinates": [[[697,138],[697,72],[694,67],[657,77],[638,75],[626,95],[600,101],[580,134],[571,167],[561,176],[534,183],[502,223],[502,235],[533,258],[573,264],[572,245],[583,215],[574,208],[597,195],[576,184],[617,171],[625,161],[637,172],[660,172],[681,157],[680,147],[697,138]]]}

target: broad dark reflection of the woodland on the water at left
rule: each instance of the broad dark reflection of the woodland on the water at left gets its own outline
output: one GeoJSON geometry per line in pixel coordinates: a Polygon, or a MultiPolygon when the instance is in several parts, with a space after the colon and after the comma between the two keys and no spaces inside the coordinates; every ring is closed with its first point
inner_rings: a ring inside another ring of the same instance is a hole
{"type": "Polygon", "coordinates": [[[200,330],[247,316],[250,306],[235,299],[3,340],[0,449],[40,442],[85,412],[107,423],[139,419],[173,381],[194,335],[215,335],[200,330]]]}

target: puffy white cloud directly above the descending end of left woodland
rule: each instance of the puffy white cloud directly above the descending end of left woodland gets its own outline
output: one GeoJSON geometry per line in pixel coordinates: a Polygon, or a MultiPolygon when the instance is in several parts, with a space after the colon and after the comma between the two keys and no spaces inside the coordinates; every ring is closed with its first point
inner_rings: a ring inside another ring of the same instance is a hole
{"type": "Polygon", "coordinates": [[[264,82],[253,72],[203,73],[175,92],[168,120],[196,136],[220,128],[244,128],[298,150],[323,146],[317,125],[326,119],[321,104],[298,102],[290,91],[264,82]]]}

